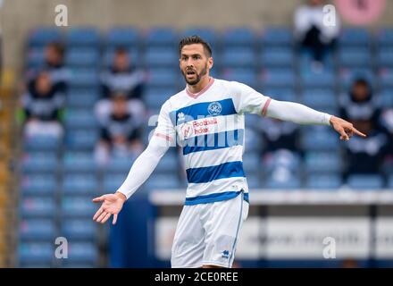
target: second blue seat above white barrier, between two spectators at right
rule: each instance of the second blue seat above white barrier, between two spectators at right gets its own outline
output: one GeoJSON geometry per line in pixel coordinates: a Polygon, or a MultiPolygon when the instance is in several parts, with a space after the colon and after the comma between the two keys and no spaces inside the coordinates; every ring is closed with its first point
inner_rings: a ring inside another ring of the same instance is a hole
{"type": "Polygon", "coordinates": [[[338,152],[315,152],[305,154],[305,171],[311,172],[340,172],[342,160],[338,152]]]}

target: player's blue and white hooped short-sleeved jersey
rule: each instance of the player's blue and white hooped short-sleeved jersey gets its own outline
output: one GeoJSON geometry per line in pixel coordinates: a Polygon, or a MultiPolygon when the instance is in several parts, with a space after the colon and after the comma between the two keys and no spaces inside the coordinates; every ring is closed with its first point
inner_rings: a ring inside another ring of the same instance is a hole
{"type": "Polygon", "coordinates": [[[235,198],[242,191],[248,200],[244,114],[265,115],[270,101],[242,83],[211,78],[198,94],[185,88],[163,104],[155,136],[182,147],[186,205],[235,198]]]}

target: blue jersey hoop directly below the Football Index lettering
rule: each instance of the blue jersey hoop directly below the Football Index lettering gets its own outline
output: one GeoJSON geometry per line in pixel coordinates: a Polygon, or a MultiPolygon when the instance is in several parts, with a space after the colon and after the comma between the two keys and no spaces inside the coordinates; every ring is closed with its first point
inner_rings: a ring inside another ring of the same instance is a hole
{"type": "Polygon", "coordinates": [[[183,155],[243,145],[243,141],[243,129],[200,135],[184,141],[183,155]]]}

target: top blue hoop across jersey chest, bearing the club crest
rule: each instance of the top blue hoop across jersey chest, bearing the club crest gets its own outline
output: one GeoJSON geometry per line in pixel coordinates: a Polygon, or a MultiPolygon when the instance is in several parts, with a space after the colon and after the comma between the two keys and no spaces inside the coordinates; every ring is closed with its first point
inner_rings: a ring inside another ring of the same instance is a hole
{"type": "Polygon", "coordinates": [[[213,116],[222,116],[222,115],[231,115],[237,114],[235,105],[233,105],[233,101],[231,98],[211,101],[211,102],[202,102],[195,105],[188,105],[186,107],[180,108],[178,110],[172,111],[170,114],[171,122],[173,125],[177,126],[178,124],[185,123],[185,122],[192,122],[197,119],[205,118],[205,117],[213,117],[213,116]],[[222,110],[220,114],[210,114],[208,111],[209,105],[213,103],[218,103],[221,105],[222,110]],[[185,115],[184,119],[182,120],[179,114],[182,113],[185,115]]]}

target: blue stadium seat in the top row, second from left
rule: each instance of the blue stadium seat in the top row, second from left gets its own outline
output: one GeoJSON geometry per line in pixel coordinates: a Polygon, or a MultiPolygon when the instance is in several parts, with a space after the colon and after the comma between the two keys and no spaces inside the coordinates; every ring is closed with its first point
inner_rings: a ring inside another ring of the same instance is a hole
{"type": "Polygon", "coordinates": [[[101,36],[95,28],[71,28],[67,34],[68,46],[99,46],[100,41],[101,36]]]}

